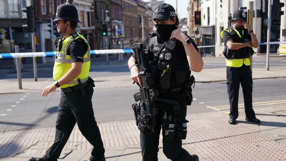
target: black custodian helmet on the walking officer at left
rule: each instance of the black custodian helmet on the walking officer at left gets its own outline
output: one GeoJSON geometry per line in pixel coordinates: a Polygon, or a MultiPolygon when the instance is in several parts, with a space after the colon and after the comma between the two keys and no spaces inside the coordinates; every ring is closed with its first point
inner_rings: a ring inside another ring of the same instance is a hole
{"type": "Polygon", "coordinates": [[[75,21],[81,23],[81,21],[79,21],[76,7],[72,4],[69,4],[69,0],[67,0],[66,4],[61,4],[58,6],[56,18],[54,21],[58,20],[75,21]]]}

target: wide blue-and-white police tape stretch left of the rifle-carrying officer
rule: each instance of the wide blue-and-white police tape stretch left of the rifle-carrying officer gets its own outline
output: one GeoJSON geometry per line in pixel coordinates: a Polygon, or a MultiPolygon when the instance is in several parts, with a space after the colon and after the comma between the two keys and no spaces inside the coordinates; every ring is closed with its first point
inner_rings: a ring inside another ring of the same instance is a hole
{"type": "MultiPolygon", "coordinates": [[[[112,49],[112,50],[91,50],[90,55],[96,54],[119,54],[119,53],[133,53],[131,49],[112,49]]],[[[47,57],[55,56],[56,52],[19,52],[19,53],[0,53],[1,58],[13,57],[47,57]]]]}

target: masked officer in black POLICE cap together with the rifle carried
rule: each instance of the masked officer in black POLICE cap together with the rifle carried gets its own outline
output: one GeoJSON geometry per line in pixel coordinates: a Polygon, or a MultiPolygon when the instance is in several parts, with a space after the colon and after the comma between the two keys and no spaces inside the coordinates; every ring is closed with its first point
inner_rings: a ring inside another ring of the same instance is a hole
{"type": "Polygon", "coordinates": [[[177,28],[179,21],[173,6],[160,3],[151,20],[157,30],[131,46],[135,54],[128,60],[131,77],[141,87],[134,95],[135,101],[140,100],[139,106],[133,104],[132,108],[140,130],[142,160],[158,160],[162,128],[167,158],[197,161],[197,155],[182,148],[182,139],[187,133],[187,105],[193,100],[190,69],[200,72],[203,61],[193,40],[177,28]]]}

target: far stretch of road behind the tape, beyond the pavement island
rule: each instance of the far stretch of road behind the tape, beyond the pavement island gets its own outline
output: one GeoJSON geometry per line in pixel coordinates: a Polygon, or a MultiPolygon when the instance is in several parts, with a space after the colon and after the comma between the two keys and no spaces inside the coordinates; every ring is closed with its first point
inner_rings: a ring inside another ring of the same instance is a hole
{"type": "MultiPolygon", "coordinates": [[[[109,59],[109,64],[106,65],[106,60],[94,60],[91,61],[90,75],[91,77],[108,77],[128,75],[129,69],[127,67],[127,61],[129,57],[124,57],[123,62],[118,62],[118,58],[109,59]]],[[[216,57],[203,57],[204,69],[215,69],[225,67],[224,58],[216,57]]],[[[286,57],[270,57],[269,68],[282,68],[285,69],[286,57]]],[[[253,58],[253,67],[266,68],[266,57],[253,58]]],[[[53,63],[47,65],[38,65],[38,78],[52,78],[53,63]]],[[[24,65],[22,70],[22,78],[33,78],[33,66],[24,65]]],[[[16,79],[17,73],[15,68],[0,69],[1,79],[16,79]]]]}

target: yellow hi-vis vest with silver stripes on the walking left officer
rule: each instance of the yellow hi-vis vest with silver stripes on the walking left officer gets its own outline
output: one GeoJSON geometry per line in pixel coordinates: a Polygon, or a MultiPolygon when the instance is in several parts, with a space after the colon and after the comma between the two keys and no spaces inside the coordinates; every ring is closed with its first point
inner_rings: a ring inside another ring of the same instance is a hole
{"type": "Polygon", "coordinates": [[[81,82],[86,82],[88,80],[89,77],[88,72],[90,68],[90,46],[87,40],[79,33],[72,34],[63,40],[62,49],[60,51],[57,51],[56,53],[55,65],[53,70],[53,79],[59,80],[61,77],[64,76],[64,74],[66,74],[71,69],[71,56],[67,55],[67,50],[71,42],[79,38],[84,40],[84,42],[88,45],[88,49],[83,57],[84,61],[81,68],[81,73],[73,81],[62,85],[60,88],[67,88],[78,84],[77,81],[78,78],[81,80],[81,82]]]}

